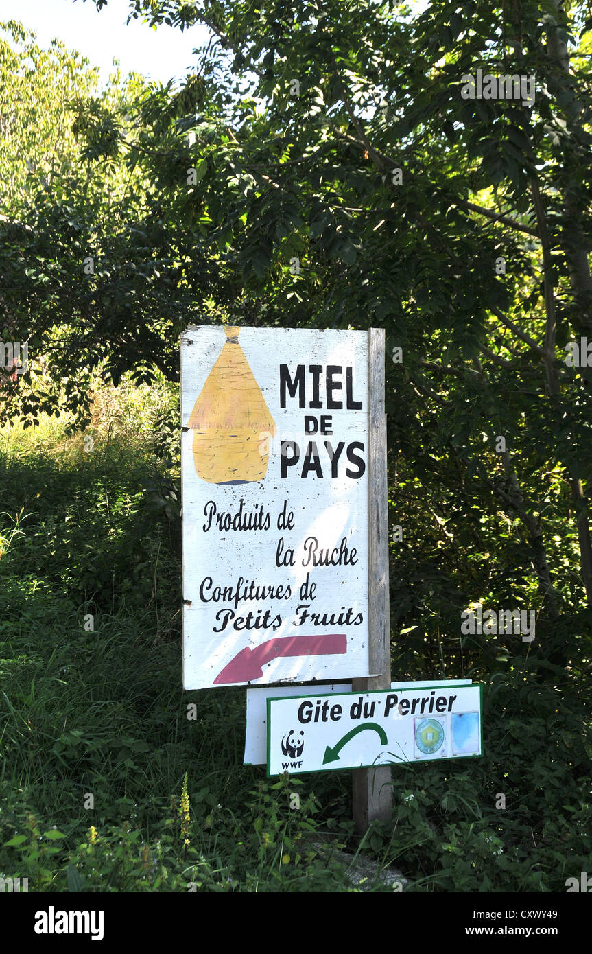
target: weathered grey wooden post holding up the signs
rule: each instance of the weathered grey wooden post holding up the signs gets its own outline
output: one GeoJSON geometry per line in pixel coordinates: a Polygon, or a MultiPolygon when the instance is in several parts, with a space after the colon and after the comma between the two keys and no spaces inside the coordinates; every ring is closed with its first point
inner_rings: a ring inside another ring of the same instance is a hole
{"type": "MultiPolygon", "coordinates": [[[[391,624],[388,562],[388,487],[384,413],[384,328],[368,331],[368,654],[367,679],[354,679],[354,692],[391,688],[391,624]]],[[[354,822],[358,835],[371,821],[393,811],[391,766],[353,770],[354,822]]]]}

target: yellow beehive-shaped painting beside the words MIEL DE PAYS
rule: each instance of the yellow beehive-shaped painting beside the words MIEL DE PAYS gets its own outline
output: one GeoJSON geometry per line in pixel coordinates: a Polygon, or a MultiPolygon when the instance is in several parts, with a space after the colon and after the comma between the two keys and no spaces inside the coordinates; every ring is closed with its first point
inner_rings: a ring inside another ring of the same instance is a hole
{"type": "Polygon", "coordinates": [[[238,343],[240,328],[224,328],[226,342],[189,419],[194,467],[209,484],[248,484],[265,477],[276,422],[238,343]]]}

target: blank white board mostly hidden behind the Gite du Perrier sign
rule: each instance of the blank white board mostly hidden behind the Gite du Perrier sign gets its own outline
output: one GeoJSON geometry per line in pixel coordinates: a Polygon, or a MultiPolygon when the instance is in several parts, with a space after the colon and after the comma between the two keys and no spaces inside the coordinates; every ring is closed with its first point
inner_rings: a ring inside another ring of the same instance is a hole
{"type": "MultiPolygon", "coordinates": [[[[450,689],[453,686],[470,686],[472,679],[429,679],[422,682],[406,681],[393,682],[391,689],[398,692],[400,689],[413,689],[414,686],[442,686],[450,689]]],[[[304,695],[309,698],[313,695],[327,695],[331,693],[351,693],[352,684],[349,682],[334,683],[323,686],[260,686],[247,690],[247,726],[245,732],[245,754],[243,765],[265,765],[267,762],[267,700],[285,698],[286,696],[304,695]]]]}

